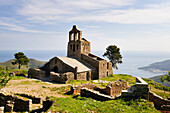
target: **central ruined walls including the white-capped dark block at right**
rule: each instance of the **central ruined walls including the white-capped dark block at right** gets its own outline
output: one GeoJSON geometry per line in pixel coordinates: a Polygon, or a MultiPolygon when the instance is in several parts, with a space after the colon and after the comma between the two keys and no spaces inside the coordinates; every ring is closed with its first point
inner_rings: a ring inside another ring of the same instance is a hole
{"type": "Polygon", "coordinates": [[[148,84],[140,77],[136,77],[136,84],[130,88],[126,81],[116,80],[114,82],[110,82],[106,88],[98,87],[95,84],[72,86],[71,92],[75,95],[91,97],[101,101],[111,100],[117,97],[125,99],[149,99],[148,84]]]}

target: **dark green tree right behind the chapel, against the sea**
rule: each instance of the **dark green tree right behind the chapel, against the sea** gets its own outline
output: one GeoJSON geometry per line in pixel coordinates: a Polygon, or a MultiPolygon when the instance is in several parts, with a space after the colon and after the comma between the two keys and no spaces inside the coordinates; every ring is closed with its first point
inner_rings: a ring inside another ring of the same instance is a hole
{"type": "Polygon", "coordinates": [[[120,49],[116,45],[108,46],[103,56],[106,56],[110,60],[112,67],[115,69],[118,69],[117,64],[123,63],[120,49]]]}

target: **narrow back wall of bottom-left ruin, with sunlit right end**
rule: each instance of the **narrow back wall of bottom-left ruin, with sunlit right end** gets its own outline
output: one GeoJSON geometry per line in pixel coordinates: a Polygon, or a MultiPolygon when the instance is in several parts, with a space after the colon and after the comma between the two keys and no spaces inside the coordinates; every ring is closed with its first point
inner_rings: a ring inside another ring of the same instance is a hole
{"type": "Polygon", "coordinates": [[[35,97],[35,96],[32,96],[32,95],[27,95],[27,94],[19,94],[19,93],[16,93],[15,95],[20,95],[22,97],[29,98],[29,99],[32,100],[33,104],[41,104],[42,103],[42,98],[39,98],[39,97],[35,97]]]}

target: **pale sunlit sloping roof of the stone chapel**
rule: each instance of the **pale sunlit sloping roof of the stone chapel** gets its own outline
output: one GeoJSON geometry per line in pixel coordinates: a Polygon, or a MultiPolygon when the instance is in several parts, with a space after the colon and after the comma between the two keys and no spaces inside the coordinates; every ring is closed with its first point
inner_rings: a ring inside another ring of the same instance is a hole
{"type": "Polygon", "coordinates": [[[84,72],[84,71],[92,70],[90,67],[83,64],[82,62],[80,62],[79,60],[75,58],[71,58],[71,57],[58,57],[58,58],[73,68],[77,66],[78,67],[77,72],[84,72]]]}

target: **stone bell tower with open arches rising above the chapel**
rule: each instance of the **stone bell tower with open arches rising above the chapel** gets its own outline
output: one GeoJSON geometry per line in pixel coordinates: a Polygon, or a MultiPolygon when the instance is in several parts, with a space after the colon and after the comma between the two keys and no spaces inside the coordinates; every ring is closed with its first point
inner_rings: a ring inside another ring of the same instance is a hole
{"type": "Polygon", "coordinates": [[[90,42],[82,38],[82,31],[78,30],[77,25],[74,25],[69,32],[67,56],[81,59],[82,53],[90,53],[90,42]]]}

